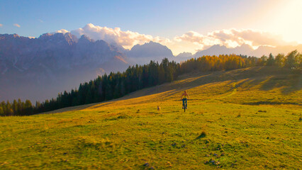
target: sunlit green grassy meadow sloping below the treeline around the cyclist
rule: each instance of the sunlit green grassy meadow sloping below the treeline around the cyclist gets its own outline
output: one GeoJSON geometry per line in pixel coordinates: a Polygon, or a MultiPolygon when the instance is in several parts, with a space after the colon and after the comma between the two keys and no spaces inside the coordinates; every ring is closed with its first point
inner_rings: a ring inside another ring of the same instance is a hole
{"type": "Polygon", "coordinates": [[[301,169],[301,96],[300,75],[252,67],[184,75],[62,113],[2,117],[0,169],[301,169]]]}

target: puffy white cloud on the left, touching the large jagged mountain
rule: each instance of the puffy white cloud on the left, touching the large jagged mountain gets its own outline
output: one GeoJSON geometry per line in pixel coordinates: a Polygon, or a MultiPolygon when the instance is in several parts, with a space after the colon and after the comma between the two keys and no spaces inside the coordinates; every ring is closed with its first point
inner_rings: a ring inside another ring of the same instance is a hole
{"type": "Polygon", "coordinates": [[[145,42],[155,41],[162,44],[169,42],[167,38],[153,37],[152,35],[140,34],[130,30],[123,31],[121,28],[107,28],[101,26],[94,26],[89,23],[83,28],[71,30],[70,33],[80,37],[87,35],[94,40],[105,40],[107,42],[117,42],[126,49],[130,49],[134,45],[143,44],[145,42]]]}

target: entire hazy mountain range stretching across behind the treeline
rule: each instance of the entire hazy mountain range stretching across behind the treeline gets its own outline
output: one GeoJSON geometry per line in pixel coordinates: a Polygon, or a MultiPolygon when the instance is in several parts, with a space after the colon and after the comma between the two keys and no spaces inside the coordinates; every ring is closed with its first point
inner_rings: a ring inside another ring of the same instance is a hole
{"type": "Polygon", "coordinates": [[[126,50],[116,42],[109,44],[86,35],[77,38],[71,33],[45,33],[39,38],[0,34],[0,101],[17,98],[44,101],[99,75],[123,72],[130,65],[146,64],[150,60],[160,62],[164,57],[180,62],[203,55],[261,57],[296,49],[301,52],[302,45],[260,46],[257,50],[250,45],[235,48],[213,45],[194,55],[183,52],[174,57],[168,47],[152,41],[126,50]]]}

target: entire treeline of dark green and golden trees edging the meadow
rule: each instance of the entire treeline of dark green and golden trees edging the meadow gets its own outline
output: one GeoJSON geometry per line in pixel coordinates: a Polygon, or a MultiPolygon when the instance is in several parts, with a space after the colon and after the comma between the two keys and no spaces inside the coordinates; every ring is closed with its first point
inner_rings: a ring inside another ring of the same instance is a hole
{"type": "Polygon", "coordinates": [[[247,57],[246,55],[219,55],[203,56],[187,60],[180,64],[164,59],[159,64],[151,61],[150,64],[128,67],[125,72],[104,74],[102,77],[79,85],[79,89],[64,91],[57,98],[36,102],[35,106],[29,100],[21,102],[14,100],[2,101],[0,115],[32,115],[53,111],[58,108],[79,106],[88,103],[108,101],[120,98],[133,91],[143,89],[176,79],[179,74],[189,73],[194,70],[201,72],[240,69],[253,66],[278,66],[287,67],[298,72],[302,71],[302,55],[296,50],[288,55],[279,54],[274,57],[267,56],[247,57]]]}

